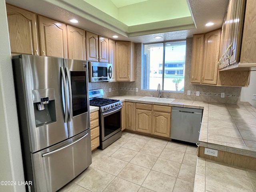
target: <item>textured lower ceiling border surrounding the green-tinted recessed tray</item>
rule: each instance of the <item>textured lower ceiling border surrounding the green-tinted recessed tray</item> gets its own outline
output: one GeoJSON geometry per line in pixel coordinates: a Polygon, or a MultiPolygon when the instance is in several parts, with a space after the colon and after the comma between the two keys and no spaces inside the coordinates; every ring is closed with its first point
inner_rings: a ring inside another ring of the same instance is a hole
{"type": "MultiPolygon", "coordinates": [[[[104,0],[105,2],[105,0],[104,0]]],[[[193,34],[205,33],[221,28],[229,0],[187,0],[192,15],[191,25],[189,18],[180,24],[179,19],[170,21],[170,27],[165,27],[164,22],[153,22],[144,25],[127,26],[112,16],[98,10],[83,0],[6,0],[6,3],[48,16],[60,22],[69,23],[70,18],[80,20],[71,24],[79,28],[112,38],[118,35],[117,40],[133,42],[160,42],[179,40],[192,37],[193,34]],[[206,22],[212,21],[214,26],[206,27],[206,22]],[[144,30],[144,28],[149,28],[144,30]],[[155,39],[162,36],[162,39],[155,39]]],[[[138,18],[139,20],[140,18],[138,18]]]]}

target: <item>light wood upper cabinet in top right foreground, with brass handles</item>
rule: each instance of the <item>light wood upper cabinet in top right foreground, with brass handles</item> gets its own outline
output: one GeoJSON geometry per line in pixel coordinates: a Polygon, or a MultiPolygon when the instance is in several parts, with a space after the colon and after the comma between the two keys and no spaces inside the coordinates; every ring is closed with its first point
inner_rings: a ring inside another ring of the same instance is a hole
{"type": "Polygon", "coordinates": [[[255,9],[254,0],[230,0],[222,26],[220,71],[256,70],[255,9]]]}

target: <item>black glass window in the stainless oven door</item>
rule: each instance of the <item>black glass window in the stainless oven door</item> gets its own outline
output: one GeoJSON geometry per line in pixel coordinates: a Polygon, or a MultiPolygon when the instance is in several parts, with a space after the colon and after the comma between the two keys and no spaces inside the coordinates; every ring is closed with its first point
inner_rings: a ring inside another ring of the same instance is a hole
{"type": "Polygon", "coordinates": [[[121,127],[121,111],[104,117],[104,137],[121,127]]]}

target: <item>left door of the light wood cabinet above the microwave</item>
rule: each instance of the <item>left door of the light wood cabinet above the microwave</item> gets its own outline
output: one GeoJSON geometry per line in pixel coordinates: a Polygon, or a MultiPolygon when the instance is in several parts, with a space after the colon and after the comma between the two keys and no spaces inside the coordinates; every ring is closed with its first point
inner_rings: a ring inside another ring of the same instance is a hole
{"type": "Polygon", "coordinates": [[[86,31],[86,60],[98,61],[98,35],[86,31]]]}

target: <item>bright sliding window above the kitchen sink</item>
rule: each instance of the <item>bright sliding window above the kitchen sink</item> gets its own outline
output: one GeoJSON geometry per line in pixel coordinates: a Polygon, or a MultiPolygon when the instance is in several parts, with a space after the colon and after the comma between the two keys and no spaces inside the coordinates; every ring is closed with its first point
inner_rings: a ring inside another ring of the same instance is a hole
{"type": "Polygon", "coordinates": [[[184,91],[186,41],[144,44],[142,88],[184,91]]]}

